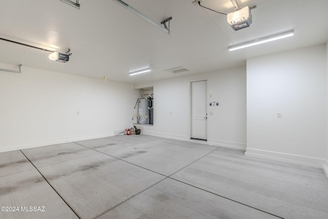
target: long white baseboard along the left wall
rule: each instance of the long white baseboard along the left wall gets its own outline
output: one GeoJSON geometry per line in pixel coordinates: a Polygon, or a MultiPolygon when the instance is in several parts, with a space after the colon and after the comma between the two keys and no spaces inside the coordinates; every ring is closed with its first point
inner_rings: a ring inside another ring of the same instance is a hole
{"type": "Polygon", "coordinates": [[[84,141],[84,140],[90,140],[90,139],[94,139],[94,138],[110,137],[110,136],[114,136],[114,131],[105,132],[105,133],[67,136],[67,137],[63,137],[63,138],[36,140],[36,141],[26,143],[26,144],[17,144],[17,145],[11,145],[11,146],[7,146],[7,147],[0,147],[0,152],[15,151],[15,150],[21,150],[21,149],[28,149],[28,148],[36,148],[36,147],[42,147],[42,146],[47,146],[47,145],[77,142],[77,141],[84,141]]]}

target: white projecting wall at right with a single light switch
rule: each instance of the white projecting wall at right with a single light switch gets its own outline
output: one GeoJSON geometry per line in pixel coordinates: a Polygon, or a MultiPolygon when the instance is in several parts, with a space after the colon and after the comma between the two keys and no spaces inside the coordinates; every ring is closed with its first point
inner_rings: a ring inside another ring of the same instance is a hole
{"type": "Polygon", "coordinates": [[[325,45],[247,60],[246,155],[322,167],[326,62],[325,45]]]}

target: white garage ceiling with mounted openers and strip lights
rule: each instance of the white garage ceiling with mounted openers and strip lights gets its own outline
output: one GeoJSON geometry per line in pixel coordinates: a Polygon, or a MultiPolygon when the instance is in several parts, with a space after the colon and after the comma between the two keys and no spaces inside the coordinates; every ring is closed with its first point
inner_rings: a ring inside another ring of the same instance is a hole
{"type": "MultiPolygon", "coordinates": [[[[74,1],[74,0],[73,0],[74,1]]],[[[172,16],[171,35],[110,0],[81,0],[80,10],[59,0],[2,1],[0,37],[73,55],[50,61],[49,52],[0,41],[0,62],[69,74],[136,83],[245,65],[246,59],[324,44],[328,39],[327,0],[237,0],[252,10],[253,24],[233,31],[226,15],[194,6],[192,0],[124,0],[158,24],[172,16]],[[230,52],[228,47],[295,30],[293,37],[230,52]],[[183,66],[189,72],[167,69],[183,66]],[[144,75],[129,71],[150,67],[144,75]]],[[[230,0],[202,5],[233,12],[230,0]]]]}

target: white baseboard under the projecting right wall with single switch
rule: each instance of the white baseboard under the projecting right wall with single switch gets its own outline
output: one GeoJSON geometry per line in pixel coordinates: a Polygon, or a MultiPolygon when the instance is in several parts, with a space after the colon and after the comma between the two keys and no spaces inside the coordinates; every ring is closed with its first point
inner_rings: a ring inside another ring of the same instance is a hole
{"type": "Polygon", "coordinates": [[[274,161],[282,161],[292,164],[300,164],[304,166],[323,168],[326,160],[310,157],[310,156],[300,156],[295,154],[280,153],[274,151],[258,150],[253,148],[247,148],[245,152],[246,156],[266,158],[274,161]]]}

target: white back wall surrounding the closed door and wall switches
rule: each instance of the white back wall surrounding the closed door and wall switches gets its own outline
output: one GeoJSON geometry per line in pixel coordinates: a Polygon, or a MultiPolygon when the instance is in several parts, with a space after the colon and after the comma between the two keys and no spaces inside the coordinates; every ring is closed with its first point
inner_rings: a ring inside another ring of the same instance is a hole
{"type": "Polygon", "coordinates": [[[136,89],[154,87],[154,126],[144,133],[161,137],[190,139],[190,82],[208,80],[208,144],[245,149],[246,145],[246,69],[231,68],[193,74],[163,81],[135,84],[136,89]],[[172,114],[171,114],[172,113],[172,114]]]}

